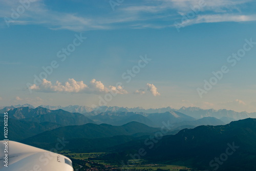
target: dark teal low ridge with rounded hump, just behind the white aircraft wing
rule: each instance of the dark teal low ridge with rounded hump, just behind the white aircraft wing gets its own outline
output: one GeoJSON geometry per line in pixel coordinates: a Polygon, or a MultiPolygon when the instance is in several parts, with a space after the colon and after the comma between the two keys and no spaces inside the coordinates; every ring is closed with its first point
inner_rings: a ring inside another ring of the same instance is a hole
{"type": "MultiPolygon", "coordinates": [[[[30,145],[49,144],[57,142],[57,138],[75,139],[75,138],[103,138],[117,135],[133,135],[136,133],[154,133],[159,129],[144,125],[138,122],[130,122],[122,126],[112,126],[109,124],[93,124],[64,126],[55,130],[47,131],[36,136],[30,137],[22,142],[30,145]]],[[[104,143],[104,142],[102,142],[104,143]]]]}

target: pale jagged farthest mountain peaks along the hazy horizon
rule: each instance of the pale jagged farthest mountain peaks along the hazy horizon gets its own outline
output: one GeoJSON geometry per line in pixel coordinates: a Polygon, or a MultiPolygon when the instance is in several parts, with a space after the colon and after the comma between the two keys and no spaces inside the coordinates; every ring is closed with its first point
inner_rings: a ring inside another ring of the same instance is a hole
{"type": "MultiPolygon", "coordinates": [[[[20,107],[29,107],[31,109],[35,109],[34,106],[30,104],[23,104],[23,105],[12,105],[8,107],[2,107],[0,110],[1,113],[7,112],[10,109],[14,108],[20,108],[20,107]]],[[[112,112],[112,113],[119,113],[119,112],[134,112],[134,113],[145,113],[145,114],[152,114],[152,113],[165,113],[170,111],[177,111],[180,113],[183,113],[187,116],[193,117],[195,119],[200,119],[203,117],[215,117],[218,119],[221,119],[225,123],[229,123],[233,120],[239,120],[239,119],[245,119],[245,118],[256,118],[256,112],[254,113],[248,113],[248,112],[236,112],[232,110],[214,110],[214,109],[200,109],[197,107],[182,107],[180,109],[173,109],[170,107],[167,108],[159,108],[159,109],[143,109],[141,107],[137,108],[124,108],[124,107],[118,107],[118,106],[98,106],[97,108],[91,108],[89,106],[79,106],[79,105],[69,105],[66,107],[62,107],[60,105],[58,106],[50,106],[50,105],[40,105],[42,108],[46,108],[49,110],[64,110],[71,113],[80,113],[84,114],[85,116],[94,116],[98,115],[100,113],[105,112],[112,112]]]]}

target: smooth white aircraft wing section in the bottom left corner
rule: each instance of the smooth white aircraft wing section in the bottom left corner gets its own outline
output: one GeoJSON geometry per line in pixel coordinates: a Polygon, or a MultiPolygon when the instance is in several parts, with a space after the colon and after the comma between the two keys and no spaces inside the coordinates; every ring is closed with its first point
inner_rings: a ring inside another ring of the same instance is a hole
{"type": "Polygon", "coordinates": [[[15,141],[6,146],[5,142],[0,141],[0,171],[73,171],[66,156],[15,141]]]}

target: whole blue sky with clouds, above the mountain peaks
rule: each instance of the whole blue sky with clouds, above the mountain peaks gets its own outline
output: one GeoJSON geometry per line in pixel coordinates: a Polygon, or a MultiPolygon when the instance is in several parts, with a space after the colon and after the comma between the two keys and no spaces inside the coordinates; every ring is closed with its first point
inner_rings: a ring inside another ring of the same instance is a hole
{"type": "Polygon", "coordinates": [[[227,61],[243,52],[247,41],[256,42],[254,1],[0,0],[0,6],[1,106],[198,106],[256,112],[256,45],[246,45],[250,50],[236,65],[227,61]],[[79,41],[79,36],[87,38],[79,41]],[[61,61],[57,53],[72,47],[61,61]],[[150,60],[139,65],[145,56],[150,60]],[[34,75],[39,77],[52,61],[58,67],[34,84],[34,75]],[[209,82],[222,66],[228,72],[206,91],[204,80],[209,82]],[[136,74],[127,82],[127,70],[133,68],[136,74]],[[198,89],[207,93],[200,96],[198,89]]]}

